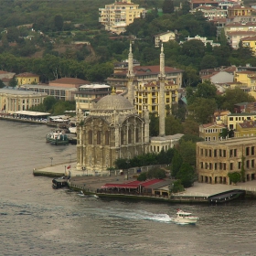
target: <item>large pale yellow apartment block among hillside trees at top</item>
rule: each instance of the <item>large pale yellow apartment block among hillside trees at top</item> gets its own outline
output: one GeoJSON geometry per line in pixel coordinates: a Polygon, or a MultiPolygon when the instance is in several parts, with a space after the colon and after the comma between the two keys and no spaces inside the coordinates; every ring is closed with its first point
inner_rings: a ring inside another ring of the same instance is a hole
{"type": "Polygon", "coordinates": [[[120,0],[115,1],[114,4],[105,5],[105,8],[99,8],[99,13],[99,22],[105,30],[121,34],[135,18],[144,15],[145,9],[139,8],[139,5],[133,4],[131,0],[120,0]]]}

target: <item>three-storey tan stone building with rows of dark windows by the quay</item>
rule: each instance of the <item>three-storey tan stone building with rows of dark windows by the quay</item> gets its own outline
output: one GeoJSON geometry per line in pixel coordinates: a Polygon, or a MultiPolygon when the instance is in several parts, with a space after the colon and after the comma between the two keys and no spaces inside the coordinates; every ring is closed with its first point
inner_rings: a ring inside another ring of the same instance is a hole
{"type": "Polygon", "coordinates": [[[255,136],[198,142],[198,181],[209,184],[230,184],[229,173],[240,173],[242,165],[245,169],[245,180],[255,179],[255,144],[255,136]]]}

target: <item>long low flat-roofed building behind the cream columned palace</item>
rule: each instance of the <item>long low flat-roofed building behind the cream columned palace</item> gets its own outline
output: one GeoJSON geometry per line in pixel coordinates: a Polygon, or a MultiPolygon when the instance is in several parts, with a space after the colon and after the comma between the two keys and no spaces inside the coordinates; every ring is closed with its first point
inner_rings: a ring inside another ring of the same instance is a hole
{"type": "Polygon", "coordinates": [[[59,86],[48,86],[37,85],[37,84],[24,84],[22,85],[23,89],[29,91],[37,91],[40,93],[47,93],[48,96],[53,96],[57,100],[61,101],[74,101],[74,95],[77,91],[77,88],[74,87],[59,87],[59,86]]]}

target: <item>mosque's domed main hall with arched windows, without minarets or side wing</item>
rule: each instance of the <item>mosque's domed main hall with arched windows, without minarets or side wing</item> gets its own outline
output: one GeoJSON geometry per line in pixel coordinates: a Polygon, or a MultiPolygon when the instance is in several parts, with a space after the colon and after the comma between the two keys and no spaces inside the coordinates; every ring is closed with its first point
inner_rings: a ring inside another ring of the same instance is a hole
{"type": "Polygon", "coordinates": [[[101,98],[83,119],[77,115],[77,169],[102,172],[117,158],[148,152],[149,114],[140,117],[130,101],[112,92],[101,98]]]}

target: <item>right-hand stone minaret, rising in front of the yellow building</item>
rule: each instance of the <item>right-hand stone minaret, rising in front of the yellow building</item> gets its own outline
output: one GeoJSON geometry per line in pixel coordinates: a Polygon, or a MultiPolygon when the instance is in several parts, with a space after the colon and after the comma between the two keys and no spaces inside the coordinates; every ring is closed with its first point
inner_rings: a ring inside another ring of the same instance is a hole
{"type": "Polygon", "coordinates": [[[162,44],[160,53],[159,136],[165,136],[165,54],[162,44]]]}

